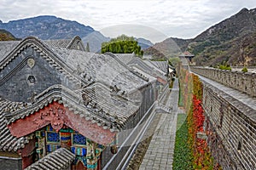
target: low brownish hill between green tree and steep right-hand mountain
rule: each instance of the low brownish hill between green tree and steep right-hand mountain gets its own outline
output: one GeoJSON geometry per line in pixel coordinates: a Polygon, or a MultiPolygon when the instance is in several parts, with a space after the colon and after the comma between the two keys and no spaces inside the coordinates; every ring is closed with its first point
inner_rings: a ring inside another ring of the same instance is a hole
{"type": "Polygon", "coordinates": [[[154,46],[144,50],[144,54],[152,55],[155,59],[178,57],[188,46],[190,39],[169,37],[163,42],[157,42],[154,46]]]}

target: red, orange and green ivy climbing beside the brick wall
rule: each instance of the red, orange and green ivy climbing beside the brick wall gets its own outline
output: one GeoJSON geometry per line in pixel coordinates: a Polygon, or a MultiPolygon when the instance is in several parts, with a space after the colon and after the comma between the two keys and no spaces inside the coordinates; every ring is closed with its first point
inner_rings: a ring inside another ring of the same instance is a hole
{"type": "MultiPolygon", "coordinates": [[[[184,71],[184,70],[183,70],[184,71]]],[[[214,165],[211,152],[207,147],[206,139],[198,139],[197,133],[203,132],[203,124],[205,121],[204,110],[201,105],[201,99],[203,94],[203,85],[199,77],[189,73],[189,71],[183,72],[183,101],[188,113],[187,122],[189,130],[189,148],[192,155],[192,164],[194,169],[219,169],[214,165]],[[185,72],[185,73],[184,73],[185,72]],[[192,97],[189,94],[192,92],[192,97]],[[191,99],[192,98],[192,99],[191,99]],[[189,102],[192,100],[192,103],[189,102]],[[189,104],[189,105],[188,105],[189,104]]]]}

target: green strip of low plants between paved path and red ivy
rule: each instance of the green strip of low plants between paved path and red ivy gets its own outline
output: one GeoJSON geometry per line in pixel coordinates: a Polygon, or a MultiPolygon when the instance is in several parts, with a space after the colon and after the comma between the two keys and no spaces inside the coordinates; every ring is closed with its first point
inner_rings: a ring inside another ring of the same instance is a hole
{"type": "Polygon", "coordinates": [[[193,169],[188,144],[188,124],[186,118],[186,114],[177,115],[177,132],[172,162],[173,170],[193,169]]]}

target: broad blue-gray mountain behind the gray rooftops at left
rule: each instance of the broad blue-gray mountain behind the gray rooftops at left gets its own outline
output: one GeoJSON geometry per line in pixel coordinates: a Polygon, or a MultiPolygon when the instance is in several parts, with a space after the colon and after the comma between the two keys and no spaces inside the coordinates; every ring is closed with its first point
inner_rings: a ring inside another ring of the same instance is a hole
{"type": "Polygon", "coordinates": [[[76,21],[48,15],[12,20],[8,23],[0,22],[0,28],[11,32],[15,37],[35,36],[43,40],[85,37],[94,31],[90,26],[81,25],[76,21]]]}

